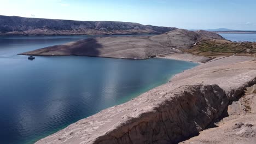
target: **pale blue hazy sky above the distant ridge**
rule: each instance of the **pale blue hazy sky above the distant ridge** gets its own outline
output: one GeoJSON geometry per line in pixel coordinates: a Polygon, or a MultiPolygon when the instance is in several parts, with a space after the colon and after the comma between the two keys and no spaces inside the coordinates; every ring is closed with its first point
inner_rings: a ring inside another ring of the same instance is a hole
{"type": "Polygon", "coordinates": [[[0,15],[256,30],[255,0],[0,0],[0,15]]]}

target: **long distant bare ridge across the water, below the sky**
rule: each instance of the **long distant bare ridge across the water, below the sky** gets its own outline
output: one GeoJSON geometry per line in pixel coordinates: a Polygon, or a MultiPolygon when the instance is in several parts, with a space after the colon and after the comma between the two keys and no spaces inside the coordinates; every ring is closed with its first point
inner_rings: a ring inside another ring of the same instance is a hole
{"type": "Polygon", "coordinates": [[[73,21],[0,15],[0,35],[162,34],[177,29],[116,21],[73,21]]]}

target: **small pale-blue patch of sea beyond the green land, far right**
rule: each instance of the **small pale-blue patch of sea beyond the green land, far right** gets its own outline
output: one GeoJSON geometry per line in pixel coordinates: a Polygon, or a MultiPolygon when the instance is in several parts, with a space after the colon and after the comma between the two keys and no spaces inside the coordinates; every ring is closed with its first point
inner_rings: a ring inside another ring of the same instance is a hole
{"type": "Polygon", "coordinates": [[[218,33],[232,41],[256,41],[256,33],[218,33]]]}

